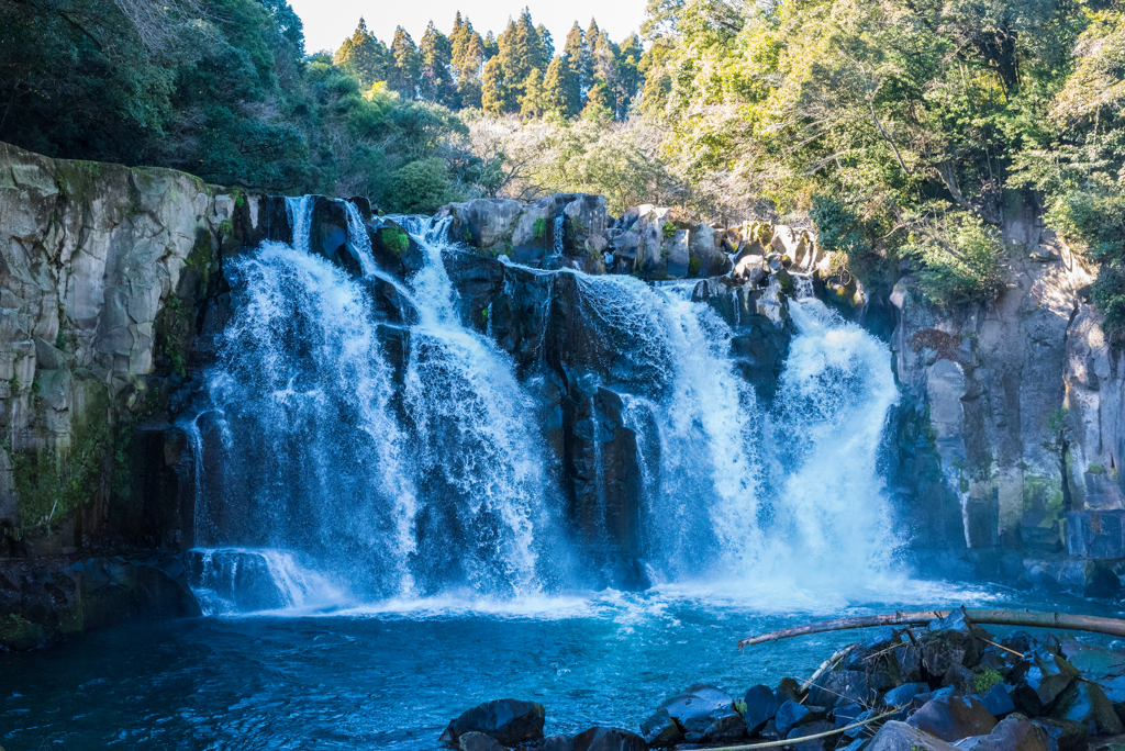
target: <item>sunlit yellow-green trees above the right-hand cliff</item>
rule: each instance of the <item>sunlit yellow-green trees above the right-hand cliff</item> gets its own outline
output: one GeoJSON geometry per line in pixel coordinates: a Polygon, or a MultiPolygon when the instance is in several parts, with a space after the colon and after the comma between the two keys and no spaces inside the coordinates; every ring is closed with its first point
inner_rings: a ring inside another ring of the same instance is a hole
{"type": "Polygon", "coordinates": [[[1071,200],[1059,173],[1081,161],[1072,146],[1118,139],[1116,12],[1097,0],[652,0],[646,30],[663,52],[647,75],[666,85],[646,107],[670,132],[668,159],[830,220],[821,236],[868,284],[904,266],[932,299],[983,301],[990,227],[1033,200],[1007,189],[1071,200]]]}

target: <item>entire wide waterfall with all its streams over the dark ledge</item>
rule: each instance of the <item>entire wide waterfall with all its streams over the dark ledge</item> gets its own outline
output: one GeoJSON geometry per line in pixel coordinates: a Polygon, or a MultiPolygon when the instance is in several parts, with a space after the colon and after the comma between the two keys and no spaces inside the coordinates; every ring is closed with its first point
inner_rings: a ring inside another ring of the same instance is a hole
{"type": "Polygon", "coordinates": [[[541,291],[513,353],[497,304],[467,314],[449,264],[479,259],[448,220],[396,218],[421,265],[393,273],[340,203],[351,273],[310,248],[309,197],[289,199],[291,245],[225,272],[232,317],[186,425],[210,612],[886,570],[890,354],[807,291],[771,324],[794,333],[768,397],[695,282],[489,261],[506,305],[541,291]]]}

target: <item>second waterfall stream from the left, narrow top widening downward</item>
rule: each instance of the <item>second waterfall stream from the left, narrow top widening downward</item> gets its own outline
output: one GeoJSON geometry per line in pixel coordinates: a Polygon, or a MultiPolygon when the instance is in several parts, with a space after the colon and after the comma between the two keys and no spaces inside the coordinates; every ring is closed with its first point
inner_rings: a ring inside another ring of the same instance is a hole
{"type": "Polygon", "coordinates": [[[421,319],[412,329],[404,401],[420,481],[441,499],[420,521],[428,542],[418,558],[434,580],[461,579],[496,595],[533,591],[549,534],[533,405],[507,355],[461,323],[442,260],[448,219],[404,224],[425,254],[411,280],[421,319]]]}

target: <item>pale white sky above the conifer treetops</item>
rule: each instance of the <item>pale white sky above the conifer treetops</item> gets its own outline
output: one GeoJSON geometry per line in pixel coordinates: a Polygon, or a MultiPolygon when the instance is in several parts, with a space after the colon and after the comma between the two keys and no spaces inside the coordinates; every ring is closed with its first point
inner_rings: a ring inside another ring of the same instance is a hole
{"type": "Polygon", "coordinates": [[[567,31],[575,21],[583,29],[590,26],[593,16],[597,25],[605,29],[610,38],[621,42],[630,31],[639,31],[645,20],[645,0],[406,0],[406,4],[371,0],[289,0],[300,20],[305,24],[305,51],[335,49],[344,37],[356,30],[360,16],[367,28],[387,44],[395,36],[395,27],[402,26],[416,43],[422,38],[426,25],[433,19],[443,34],[453,28],[453,16],[472,21],[472,28],[484,36],[492,30],[500,34],[507,25],[508,16],[516,17],[524,6],[531,9],[536,25],[544,25],[555,39],[556,49],[561,48],[567,31]]]}

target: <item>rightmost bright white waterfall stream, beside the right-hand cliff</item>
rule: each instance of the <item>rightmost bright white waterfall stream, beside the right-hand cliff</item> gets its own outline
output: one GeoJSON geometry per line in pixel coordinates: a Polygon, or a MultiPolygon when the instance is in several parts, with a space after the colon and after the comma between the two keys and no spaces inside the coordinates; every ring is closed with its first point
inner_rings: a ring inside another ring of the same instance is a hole
{"type": "Polygon", "coordinates": [[[793,550],[820,578],[860,581],[888,567],[900,544],[876,461],[899,398],[886,346],[816,299],[790,307],[794,338],[772,415],[778,512],[793,550]]]}

